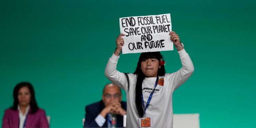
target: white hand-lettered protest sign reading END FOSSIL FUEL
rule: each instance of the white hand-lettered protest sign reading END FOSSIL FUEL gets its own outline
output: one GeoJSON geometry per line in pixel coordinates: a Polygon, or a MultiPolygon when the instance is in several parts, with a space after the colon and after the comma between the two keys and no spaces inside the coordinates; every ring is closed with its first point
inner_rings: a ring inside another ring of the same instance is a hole
{"type": "Polygon", "coordinates": [[[123,54],[173,50],[170,14],[123,17],[119,23],[125,34],[123,54]]]}

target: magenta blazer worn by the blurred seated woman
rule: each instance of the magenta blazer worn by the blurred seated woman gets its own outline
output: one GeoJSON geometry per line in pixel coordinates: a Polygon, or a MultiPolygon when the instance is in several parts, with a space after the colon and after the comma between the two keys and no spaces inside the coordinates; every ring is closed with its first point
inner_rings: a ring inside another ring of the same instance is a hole
{"type": "MultiPolygon", "coordinates": [[[[49,128],[48,121],[43,109],[38,109],[34,114],[28,111],[25,128],[49,128]]],[[[19,110],[6,109],[3,116],[2,128],[19,127],[19,110]]]]}

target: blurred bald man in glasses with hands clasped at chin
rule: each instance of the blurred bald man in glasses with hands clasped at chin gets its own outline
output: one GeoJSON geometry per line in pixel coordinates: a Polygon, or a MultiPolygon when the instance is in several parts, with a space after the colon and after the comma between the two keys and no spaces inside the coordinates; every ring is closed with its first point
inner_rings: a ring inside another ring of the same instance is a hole
{"type": "Polygon", "coordinates": [[[84,127],[123,127],[126,102],[121,100],[121,89],[117,85],[112,83],[105,85],[102,100],[85,107],[84,127]]]}

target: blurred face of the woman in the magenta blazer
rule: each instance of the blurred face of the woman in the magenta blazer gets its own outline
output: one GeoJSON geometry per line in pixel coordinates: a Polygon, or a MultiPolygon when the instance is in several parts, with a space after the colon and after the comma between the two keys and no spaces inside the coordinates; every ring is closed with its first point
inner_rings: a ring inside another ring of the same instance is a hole
{"type": "Polygon", "coordinates": [[[18,101],[21,106],[28,106],[30,103],[31,94],[27,86],[24,86],[18,91],[18,101]]]}

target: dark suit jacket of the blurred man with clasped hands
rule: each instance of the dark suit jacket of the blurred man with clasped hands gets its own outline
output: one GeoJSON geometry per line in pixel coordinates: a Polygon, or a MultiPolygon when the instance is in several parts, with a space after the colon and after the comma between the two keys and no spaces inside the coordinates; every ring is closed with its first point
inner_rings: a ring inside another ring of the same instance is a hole
{"type": "MultiPolygon", "coordinates": [[[[122,108],[126,111],[126,102],[121,102],[122,108]]],[[[105,108],[103,101],[99,101],[93,104],[89,104],[85,107],[85,122],[84,128],[99,128],[99,125],[96,123],[95,118],[100,114],[100,112],[105,108]]],[[[106,122],[102,127],[108,127],[108,119],[107,116],[105,117],[106,122]]],[[[123,116],[116,115],[116,127],[121,128],[123,127],[123,116]]]]}

